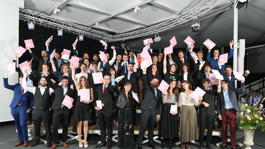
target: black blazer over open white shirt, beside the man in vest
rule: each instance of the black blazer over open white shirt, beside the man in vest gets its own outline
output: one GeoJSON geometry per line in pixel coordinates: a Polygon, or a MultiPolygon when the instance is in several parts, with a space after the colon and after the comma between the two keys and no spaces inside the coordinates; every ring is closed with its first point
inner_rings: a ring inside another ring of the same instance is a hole
{"type": "MultiPolygon", "coordinates": [[[[64,95],[64,89],[62,87],[62,85],[54,85],[50,79],[49,76],[44,76],[46,81],[47,81],[47,84],[54,90],[55,92],[55,100],[51,106],[52,109],[55,109],[55,110],[58,110],[62,103],[63,103],[63,100],[64,100],[64,97],[65,95],[68,95],[69,97],[73,98],[74,99],[74,91],[68,87],[67,88],[67,92],[66,94],[64,95]]],[[[73,101],[73,106],[75,104],[75,100],[73,101]]],[[[69,112],[69,109],[68,107],[64,106],[64,109],[69,112]]]]}

